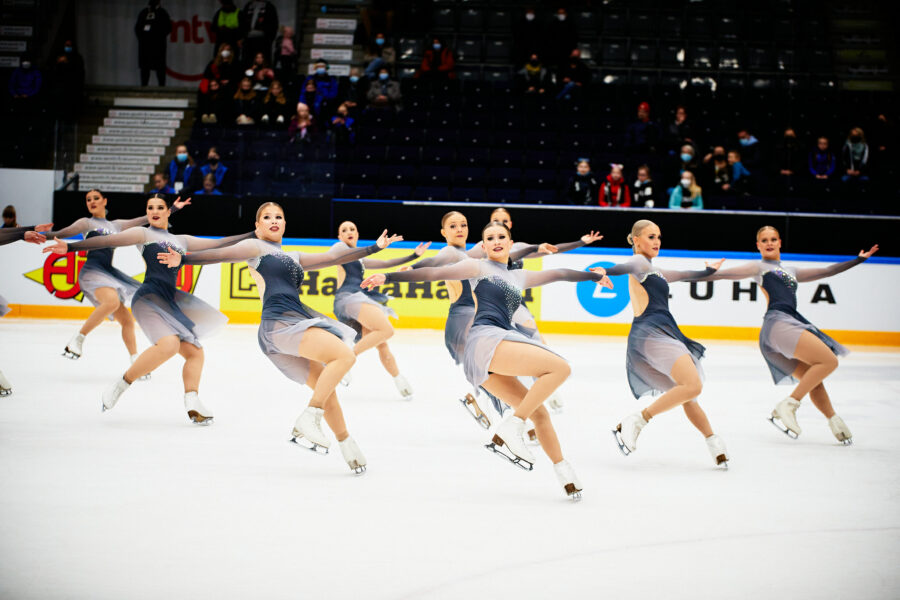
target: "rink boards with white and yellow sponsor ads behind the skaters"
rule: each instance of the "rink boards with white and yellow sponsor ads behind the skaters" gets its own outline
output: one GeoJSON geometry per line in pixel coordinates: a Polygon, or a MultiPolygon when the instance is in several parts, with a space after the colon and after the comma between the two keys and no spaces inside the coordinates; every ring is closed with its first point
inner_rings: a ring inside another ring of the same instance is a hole
{"type": "MultiPolygon", "coordinates": [[[[285,240],[285,250],[324,252],[333,241],[285,240]]],[[[371,242],[363,241],[361,244],[371,242]]],[[[378,254],[379,259],[406,256],[414,243],[403,242],[378,254]]],[[[424,256],[442,247],[433,244],[424,256]]],[[[583,248],[567,254],[526,261],[528,269],[609,267],[630,255],[618,248],[583,248]]],[[[757,260],[755,253],[701,253],[665,250],[654,262],[665,269],[702,269],[706,261],[726,258],[725,267],[757,260]]],[[[785,254],[785,262],[815,267],[848,260],[844,256],[785,254]]],[[[17,242],[3,249],[0,294],[13,312],[10,316],[83,319],[92,307],[78,289],[83,253],[43,255],[36,246],[17,242]]],[[[122,248],[114,264],[140,279],[140,254],[122,248]]],[[[526,302],[548,333],[627,335],[633,318],[627,276],[613,278],[614,289],[592,282],[556,283],[526,292],[526,302]]],[[[256,323],[261,303],[246,263],[183,267],[179,286],[222,310],[235,323],[256,323]]],[[[312,308],[332,314],[337,288],[337,267],[308,272],[301,298],[312,308]]],[[[399,315],[397,327],[442,328],[450,305],[444,282],[400,283],[383,286],[399,315]]],[[[801,283],[798,310],[811,322],[850,344],[900,345],[900,311],[891,305],[900,295],[900,259],[870,259],[865,264],[825,280],[801,283]]],[[[670,307],[688,335],[717,339],[756,339],[766,300],[750,280],[674,283],[670,307]]]]}

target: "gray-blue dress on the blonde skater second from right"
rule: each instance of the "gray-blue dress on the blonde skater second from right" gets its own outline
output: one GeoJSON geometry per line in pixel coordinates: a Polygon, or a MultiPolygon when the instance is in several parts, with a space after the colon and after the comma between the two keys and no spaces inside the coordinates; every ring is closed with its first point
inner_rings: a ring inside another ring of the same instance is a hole
{"type": "Polygon", "coordinates": [[[606,270],[610,276],[629,274],[647,292],[647,308],[631,324],[625,353],[628,385],[635,398],[666,392],[675,387],[672,367],[685,354],[691,357],[701,380],[704,378],[700,359],[706,348],[678,328],[669,312],[669,283],[695,280],[713,272],[711,268],[702,271],[657,269],[640,255],[606,270]]]}

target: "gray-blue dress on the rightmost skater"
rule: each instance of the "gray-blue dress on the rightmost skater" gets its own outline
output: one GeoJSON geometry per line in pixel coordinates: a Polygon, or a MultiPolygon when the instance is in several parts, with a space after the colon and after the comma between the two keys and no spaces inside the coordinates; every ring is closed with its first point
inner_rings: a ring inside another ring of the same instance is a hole
{"type": "Polygon", "coordinates": [[[776,384],[791,384],[797,382],[793,373],[799,361],[794,356],[804,331],[822,340],[836,356],[846,356],[850,352],[797,312],[797,284],[836,275],[864,261],[864,258],[855,258],[827,267],[798,269],[781,261],[763,259],[732,269],[720,269],[706,279],[752,278],[765,290],[768,307],[759,330],[759,349],[772,373],[772,380],[776,384]]]}

